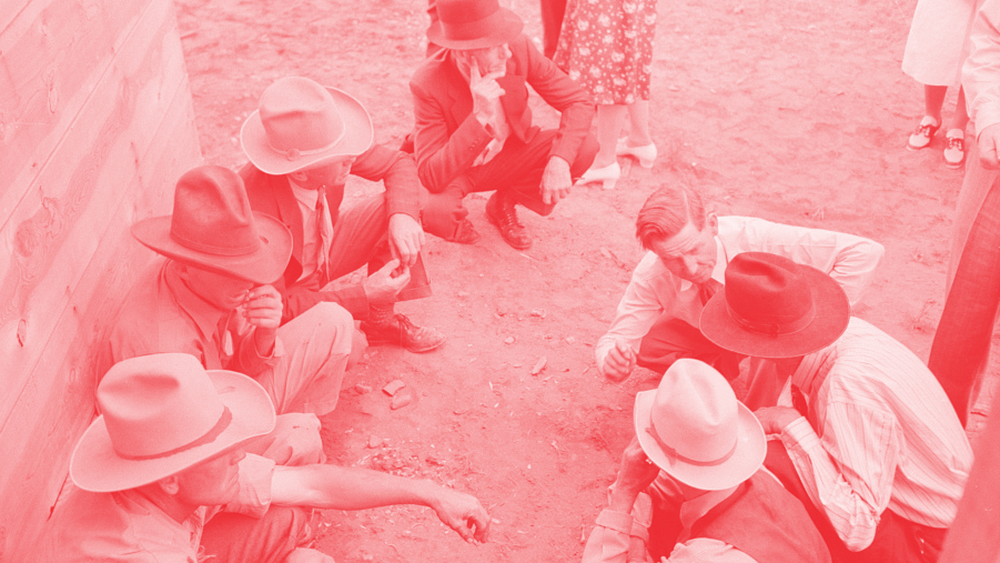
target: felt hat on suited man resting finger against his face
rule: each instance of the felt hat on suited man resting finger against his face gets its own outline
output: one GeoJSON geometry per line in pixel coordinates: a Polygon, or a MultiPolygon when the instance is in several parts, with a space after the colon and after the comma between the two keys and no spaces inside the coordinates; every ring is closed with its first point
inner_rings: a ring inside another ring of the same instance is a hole
{"type": "Polygon", "coordinates": [[[484,49],[513,41],[524,21],[497,0],[437,0],[427,40],[446,49],[484,49]]]}

